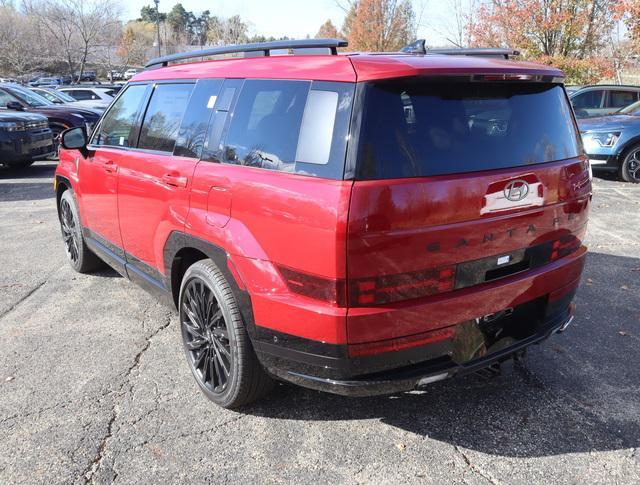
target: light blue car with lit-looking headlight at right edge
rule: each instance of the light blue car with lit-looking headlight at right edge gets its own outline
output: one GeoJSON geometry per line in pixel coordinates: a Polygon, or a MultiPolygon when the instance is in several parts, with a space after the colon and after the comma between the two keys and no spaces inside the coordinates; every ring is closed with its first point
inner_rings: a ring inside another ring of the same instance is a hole
{"type": "Polygon", "coordinates": [[[578,119],[578,126],[593,170],[640,183],[640,101],[609,116],[578,119]]]}

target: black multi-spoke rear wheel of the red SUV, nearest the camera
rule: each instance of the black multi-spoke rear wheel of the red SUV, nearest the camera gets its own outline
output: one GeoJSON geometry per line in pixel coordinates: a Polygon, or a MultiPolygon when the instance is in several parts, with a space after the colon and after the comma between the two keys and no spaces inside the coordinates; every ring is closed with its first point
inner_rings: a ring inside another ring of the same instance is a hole
{"type": "Polygon", "coordinates": [[[233,292],[213,261],[187,269],[179,313],[189,368],[211,401],[237,408],[271,390],[273,380],[258,362],[233,292]]]}

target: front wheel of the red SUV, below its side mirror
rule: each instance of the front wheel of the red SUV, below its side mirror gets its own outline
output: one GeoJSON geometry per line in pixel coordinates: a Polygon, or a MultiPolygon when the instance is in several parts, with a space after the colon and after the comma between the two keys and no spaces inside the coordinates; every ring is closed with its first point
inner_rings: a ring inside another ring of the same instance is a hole
{"type": "Polygon", "coordinates": [[[78,273],[89,273],[102,266],[100,258],[87,247],[84,241],[80,213],[71,189],[65,190],[60,197],[58,217],[64,249],[71,267],[78,273]]]}

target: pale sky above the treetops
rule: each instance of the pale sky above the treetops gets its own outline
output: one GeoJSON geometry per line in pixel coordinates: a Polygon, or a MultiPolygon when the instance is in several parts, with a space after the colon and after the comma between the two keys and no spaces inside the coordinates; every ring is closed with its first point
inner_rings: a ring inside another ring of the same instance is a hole
{"type": "MultiPolygon", "coordinates": [[[[250,34],[267,37],[313,36],[327,19],[340,28],[345,15],[336,0],[160,0],[160,11],[168,12],[176,3],[194,13],[209,10],[211,15],[225,18],[240,15],[249,24],[250,34]]],[[[138,18],[143,6],[154,3],[127,0],[125,5],[125,18],[129,20],[138,18]]],[[[443,34],[450,0],[413,0],[413,5],[419,18],[418,38],[426,38],[430,45],[446,45],[443,34]]]]}

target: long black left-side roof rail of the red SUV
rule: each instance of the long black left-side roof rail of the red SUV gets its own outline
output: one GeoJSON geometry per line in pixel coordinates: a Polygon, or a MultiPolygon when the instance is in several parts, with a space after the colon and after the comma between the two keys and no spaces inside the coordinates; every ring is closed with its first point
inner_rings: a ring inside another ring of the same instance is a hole
{"type": "Polygon", "coordinates": [[[257,42],[253,44],[228,45],[223,47],[210,47],[191,52],[181,52],[168,56],[151,59],[145,64],[145,68],[154,66],[166,67],[170,62],[194,59],[197,57],[209,57],[222,54],[241,54],[258,52],[263,56],[269,56],[270,51],[277,49],[330,49],[332,55],[338,53],[338,47],[346,47],[346,40],[341,39],[303,39],[303,40],[276,40],[273,42],[257,42]]]}

